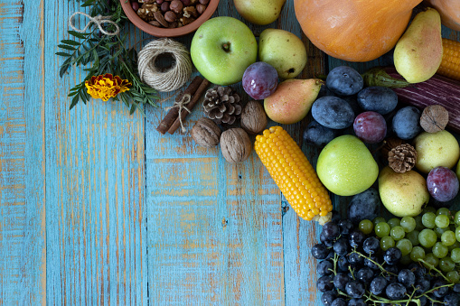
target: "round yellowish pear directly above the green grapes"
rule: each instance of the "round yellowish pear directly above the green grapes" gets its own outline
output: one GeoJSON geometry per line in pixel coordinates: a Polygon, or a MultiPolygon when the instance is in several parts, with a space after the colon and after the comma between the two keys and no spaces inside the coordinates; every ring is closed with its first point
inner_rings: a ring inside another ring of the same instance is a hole
{"type": "Polygon", "coordinates": [[[385,167],[379,175],[379,193],[383,205],[397,217],[414,217],[427,206],[427,181],[418,172],[394,172],[385,167]]]}

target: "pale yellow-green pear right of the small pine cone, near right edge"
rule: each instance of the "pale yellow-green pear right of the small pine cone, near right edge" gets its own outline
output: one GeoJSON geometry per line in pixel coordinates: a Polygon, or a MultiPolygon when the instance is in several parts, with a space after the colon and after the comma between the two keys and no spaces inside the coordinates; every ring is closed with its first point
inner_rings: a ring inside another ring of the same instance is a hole
{"type": "Polygon", "coordinates": [[[443,166],[452,168],[460,157],[460,146],[453,134],[446,130],[437,133],[422,132],[414,139],[417,151],[416,167],[423,173],[443,166]]]}

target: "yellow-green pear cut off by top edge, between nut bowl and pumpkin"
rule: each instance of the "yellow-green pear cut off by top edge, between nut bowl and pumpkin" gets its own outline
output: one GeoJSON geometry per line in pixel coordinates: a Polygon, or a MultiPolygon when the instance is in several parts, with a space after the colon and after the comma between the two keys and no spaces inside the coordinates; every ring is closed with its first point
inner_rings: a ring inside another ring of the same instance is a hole
{"type": "Polygon", "coordinates": [[[286,0],[233,0],[238,13],[249,23],[265,25],[277,20],[286,0]]]}

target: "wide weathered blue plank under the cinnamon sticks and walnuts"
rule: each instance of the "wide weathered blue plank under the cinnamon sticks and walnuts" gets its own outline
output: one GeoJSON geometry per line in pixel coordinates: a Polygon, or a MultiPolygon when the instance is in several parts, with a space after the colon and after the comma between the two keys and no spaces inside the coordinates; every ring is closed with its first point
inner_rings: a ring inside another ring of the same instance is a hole
{"type": "MultiPolygon", "coordinates": [[[[242,20],[232,1],[221,1],[215,15],[242,20]]],[[[247,24],[256,34],[264,28],[247,24]]],[[[177,40],[190,46],[191,39],[177,40]]],[[[248,100],[240,85],[234,88],[248,100]]],[[[159,134],[155,127],[164,111],[147,112],[151,301],[284,304],[280,194],[257,155],[230,164],[219,148],[203,149],[188,133],[159,134]]],[[[200,104],[187,117],[186,128],[202,116],[200,104]]]]}

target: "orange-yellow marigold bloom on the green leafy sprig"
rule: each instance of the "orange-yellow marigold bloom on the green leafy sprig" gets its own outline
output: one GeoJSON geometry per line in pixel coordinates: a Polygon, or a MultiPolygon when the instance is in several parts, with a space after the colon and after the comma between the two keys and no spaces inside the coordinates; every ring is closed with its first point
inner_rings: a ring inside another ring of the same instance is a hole
{"type": "Polygon", "coordinates": [[[93,76],[85,81],[89,95],[94,98],[101,98],[104,101],[107,101],[110,97],[117,97],[117,94],[129,90],[132,85],[127,79],[120,79],[118,76],[114,77],[110,73],[97,77],[93,76]]]}

